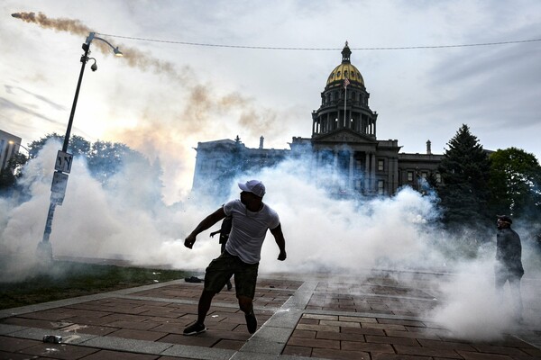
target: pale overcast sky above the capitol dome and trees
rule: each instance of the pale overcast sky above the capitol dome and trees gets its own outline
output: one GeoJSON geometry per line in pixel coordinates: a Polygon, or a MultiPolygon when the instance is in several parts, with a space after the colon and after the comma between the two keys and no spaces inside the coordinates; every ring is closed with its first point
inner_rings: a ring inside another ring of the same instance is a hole
{"type": "Polygon", "coordinates": [[[289,148],[310,137],[346,40],[378,139],[408,153],[430,139],[443,153],[465,123],[484,148],[541,157],[541,41],[369,49],[541,39],[537,0],[7,0],[0,11],[0,129],[23,145],[65,133],[81,44],[96,31],[126,56],[92,42],[98,70],[86,68],[72,134],[160,158],[170,199],[191,186],[198,141],[238,135],[256,148],[263,136],[265,148],[289,148]],[[20,12],[79,23],[46,29],[11,16],[20,12]]]}

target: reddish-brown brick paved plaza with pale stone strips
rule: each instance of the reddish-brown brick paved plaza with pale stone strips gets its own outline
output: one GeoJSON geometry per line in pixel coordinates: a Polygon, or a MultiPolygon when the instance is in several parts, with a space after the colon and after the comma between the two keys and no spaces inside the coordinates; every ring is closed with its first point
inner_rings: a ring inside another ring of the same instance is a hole
{"type": "Polygon", "coordinates": [[[0,359],[541,359],[541,329],[495,342],[450,338],[422,318],[438,298],[424,282],[445,275],[401,274],[261,275],[252,336],[234,289],[215,296],[205,333],[183,336],[203,286],[184,280],[8,309],[0,359]],[[43,343],[46,334],[62,343],[43,343]]]}

